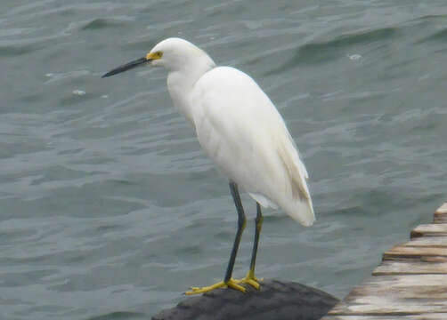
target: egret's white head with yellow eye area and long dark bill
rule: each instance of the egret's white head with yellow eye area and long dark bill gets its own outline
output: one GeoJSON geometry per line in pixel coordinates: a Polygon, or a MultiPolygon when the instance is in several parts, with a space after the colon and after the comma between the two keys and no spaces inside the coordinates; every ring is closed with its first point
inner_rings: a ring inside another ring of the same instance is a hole
{"type": "Polygon", "coordinates": [[[102,77],[113,76],[144,65],[162,66],[169,71],[173,71],[202,64],[206,64],[209,67],[214,67],[215,65],[207,53],[194,44],[180,38],[167,38],[156,44],[144,57],[114,68],[102,77]]]}

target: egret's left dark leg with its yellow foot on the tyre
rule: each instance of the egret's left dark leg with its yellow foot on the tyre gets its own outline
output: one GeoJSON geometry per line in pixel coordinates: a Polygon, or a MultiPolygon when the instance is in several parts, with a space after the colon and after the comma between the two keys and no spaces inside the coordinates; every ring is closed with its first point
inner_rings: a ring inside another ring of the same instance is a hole
{"type": "Polygon", "coordinates": [[[246,289],[242,285],[238,284],[240,281],[232,279],[232,269],[234,268],[234,261],[236,260],[236,255],[238,254],[240,238],[242,237],[242,232],[244,231],[247,219],[245,217],[244,208],[242,207],[242,202],[240,201],[238,185],[233,181],[230,181],[230,191],[232,192],[232,198],[238,212],[238,231],[236,232],[234,244],[232,245],[232,255],[230,256],[230,260],[228,261],[228,267],[225,272],[225,277],[223,278],[223,281],[218,282],[217,284],[209,285],[203,288],[191,287],[191,292],[186,292],[186,294],[209,292],[216,288],[226,287],[230,287],[241,292],[246,291],[246,289]]]}

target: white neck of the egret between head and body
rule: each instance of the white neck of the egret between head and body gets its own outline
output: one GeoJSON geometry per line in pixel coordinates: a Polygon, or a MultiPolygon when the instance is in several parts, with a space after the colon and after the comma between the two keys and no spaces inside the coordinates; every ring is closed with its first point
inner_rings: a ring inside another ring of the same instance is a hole
{"type": "Polygon", "coordinates": [[[192,114],[194,105],[191,103],[191,92],[194,84],[207,71],[215,68],[215,63],[208,56],[195,60],[193,63],[186,61],[180,67],[169,70],[167,74],[167,89],[176,108],[193,124],[192,114]],[[189,62],[189,63],[188,63],[189,62]]]}

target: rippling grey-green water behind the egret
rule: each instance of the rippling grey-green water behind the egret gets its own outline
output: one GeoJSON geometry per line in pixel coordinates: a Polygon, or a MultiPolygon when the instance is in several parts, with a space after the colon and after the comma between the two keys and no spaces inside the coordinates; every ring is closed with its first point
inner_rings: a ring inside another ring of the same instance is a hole
{"type": "MultiPolygon", "coordinates": [[[[167,36],[255,77],[304,157],[313,228],[265,212],[257,273],[342,298],[446,199],[444,1],[0,4],[0,317],[144,319],[220,280],[227,182],[161,69],[167,36]]],[[[235,276],[248,268],[255,206],[235,276]]]]}

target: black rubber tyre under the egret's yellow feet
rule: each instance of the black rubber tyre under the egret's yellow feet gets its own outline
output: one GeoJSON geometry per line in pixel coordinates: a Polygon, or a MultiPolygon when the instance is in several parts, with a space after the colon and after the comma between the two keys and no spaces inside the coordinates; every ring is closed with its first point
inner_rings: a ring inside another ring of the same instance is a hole
{"type": "Polygon", "coordinates": [[[303,284],[263,281],[261,290],[215,289],[180,302],[152,320],[270,320],[321,319],[337,302],[329,293],[303,284]]]}

